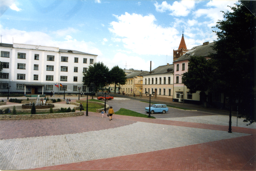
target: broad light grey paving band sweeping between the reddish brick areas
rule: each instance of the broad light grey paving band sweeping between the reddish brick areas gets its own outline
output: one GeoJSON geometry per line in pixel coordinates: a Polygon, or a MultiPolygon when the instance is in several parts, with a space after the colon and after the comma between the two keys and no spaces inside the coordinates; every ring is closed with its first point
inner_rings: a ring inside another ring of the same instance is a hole
{"type": "MultiPolygon", "coordinates": [[[[0,154],[4,163],[12,161],[11,163],[15,163],[15,170],[20,170],[170,149],[246,135],[248,134],[137,122],[99,131],[0,140],[0,154]]],[[[10,168],[11,163],[3,165],[1,169],[10,168]]]]}

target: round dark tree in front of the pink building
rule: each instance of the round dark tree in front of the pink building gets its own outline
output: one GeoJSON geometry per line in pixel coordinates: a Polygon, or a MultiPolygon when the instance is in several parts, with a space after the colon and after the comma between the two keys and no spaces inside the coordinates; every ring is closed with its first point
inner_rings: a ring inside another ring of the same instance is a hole
{"type": "Polygon", "coordinates": [[[191,93],[197,91],[201,92],[206,105],[206,91],[212,89],[214,83],[214,67],[212,61],[206,59],[204,56],[191,56],[189,59],[189,70],[183,74],[183,83],[190,90],[191,93]]]}

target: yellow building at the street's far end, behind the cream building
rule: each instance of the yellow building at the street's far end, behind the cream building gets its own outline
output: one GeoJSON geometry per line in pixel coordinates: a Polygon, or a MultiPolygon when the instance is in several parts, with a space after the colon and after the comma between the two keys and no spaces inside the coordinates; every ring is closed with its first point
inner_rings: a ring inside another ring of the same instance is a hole
{"type": "Polygon", "coordinates": [[[120,86],[120,93],[140,96],[143,89],[143,76],[147,73],[148,71],[142,71],[128,74],[126,84],[120,86]]]}

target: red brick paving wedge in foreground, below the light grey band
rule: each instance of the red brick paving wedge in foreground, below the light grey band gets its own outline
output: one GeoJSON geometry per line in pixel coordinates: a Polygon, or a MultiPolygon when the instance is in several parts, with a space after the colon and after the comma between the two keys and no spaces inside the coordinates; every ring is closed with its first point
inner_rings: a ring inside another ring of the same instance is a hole
{"type": "Polygon", "coordinates": [[[206,170],[255,171],[256,136],[249,135],[107,159],[34,170],[206,170]]]}

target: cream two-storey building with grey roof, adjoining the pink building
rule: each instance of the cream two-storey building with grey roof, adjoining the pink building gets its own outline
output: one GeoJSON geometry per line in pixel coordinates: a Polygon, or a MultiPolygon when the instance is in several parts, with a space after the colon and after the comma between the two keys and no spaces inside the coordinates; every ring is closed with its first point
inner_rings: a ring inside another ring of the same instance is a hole
{"type": "Polygon", "coordinates": [[[153,98],[173,100],[173,64],[159,66],[143,76],[143,94],[155,92],[153,98]]]}

